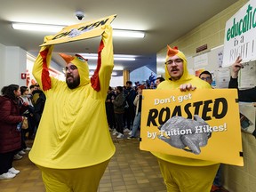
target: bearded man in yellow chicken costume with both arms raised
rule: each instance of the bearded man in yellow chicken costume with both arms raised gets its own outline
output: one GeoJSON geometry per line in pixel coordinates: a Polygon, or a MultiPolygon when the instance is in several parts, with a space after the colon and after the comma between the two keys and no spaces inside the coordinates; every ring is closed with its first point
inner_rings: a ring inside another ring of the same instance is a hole
{"type": "MultiPolygon", "coordinates": [[[[87,61],[60,53],[66,82],[49,76],[53,45],[43,46],[33,68],[46,96],[30,160],[42,171],[46,191],[97,191],[115,154],[108,131],[105,100],[114,67],[112,28],[103,26],[98,64],[89,78],[87,61]]],[[[45,36],[44,42],[52,36],[45,36]]]]}

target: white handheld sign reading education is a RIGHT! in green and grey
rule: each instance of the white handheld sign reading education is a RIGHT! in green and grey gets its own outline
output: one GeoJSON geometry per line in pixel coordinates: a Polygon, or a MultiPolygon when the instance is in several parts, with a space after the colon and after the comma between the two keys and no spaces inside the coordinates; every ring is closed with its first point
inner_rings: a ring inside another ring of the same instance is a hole
{"type": "Polygon", "coordinates": [[[222,68],[240,56],[243,62],[256,60],[256,1],[251,0],[227,22],[222,68]]]}

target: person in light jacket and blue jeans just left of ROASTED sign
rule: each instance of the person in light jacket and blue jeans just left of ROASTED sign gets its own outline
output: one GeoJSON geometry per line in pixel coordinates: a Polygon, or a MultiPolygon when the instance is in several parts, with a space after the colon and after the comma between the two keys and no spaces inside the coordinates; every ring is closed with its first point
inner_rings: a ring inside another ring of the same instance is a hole
{"type": "Polygon", "coordinates": [[[127,139],[131,140],[132,138],[136,138],[137,131],[140,127],[140,117],[141,117],[141,103],[142,103],[142,90],[145,89],[145,86],[141,84],[138,86],[138,94],[133,101],[134,106],[136,106],[136,114],[134,117],[133,125],[132,125],[132,134],[127,139]]]}

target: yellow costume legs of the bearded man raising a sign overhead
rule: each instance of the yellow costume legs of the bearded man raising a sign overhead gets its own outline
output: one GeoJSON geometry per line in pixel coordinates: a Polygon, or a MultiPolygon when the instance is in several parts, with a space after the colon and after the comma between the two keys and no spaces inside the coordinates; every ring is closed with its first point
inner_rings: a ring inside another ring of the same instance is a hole
{"type": "Polygon", "coordinates": [[[38,166],[46,192],[96,192],[108,161],[78,169],[51,169],[38,166]]]}

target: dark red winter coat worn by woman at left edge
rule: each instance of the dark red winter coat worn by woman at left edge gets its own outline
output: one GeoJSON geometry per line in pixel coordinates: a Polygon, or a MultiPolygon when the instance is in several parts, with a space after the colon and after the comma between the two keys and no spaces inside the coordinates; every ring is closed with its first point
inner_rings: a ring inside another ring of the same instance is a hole
{"type": "Polygon", "coordinates": [[[22,122],[18,103],[0,96],[0,153],[21,148],[21,135],[17,124],[22,122]]]}

